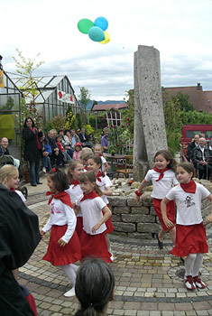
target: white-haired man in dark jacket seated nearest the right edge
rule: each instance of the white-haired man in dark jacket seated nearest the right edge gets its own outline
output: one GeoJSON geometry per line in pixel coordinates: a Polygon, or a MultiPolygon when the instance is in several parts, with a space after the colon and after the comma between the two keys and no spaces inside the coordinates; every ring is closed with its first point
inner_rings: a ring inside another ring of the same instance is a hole
{"type": "Polygon", "coordinates": [[[212,165],[210,164],[210,151],[205,148],[206,139],[199,139],[199,146],[193,151],[194,167],[198,169],[198,179],[210,179],[212,165]]]}

